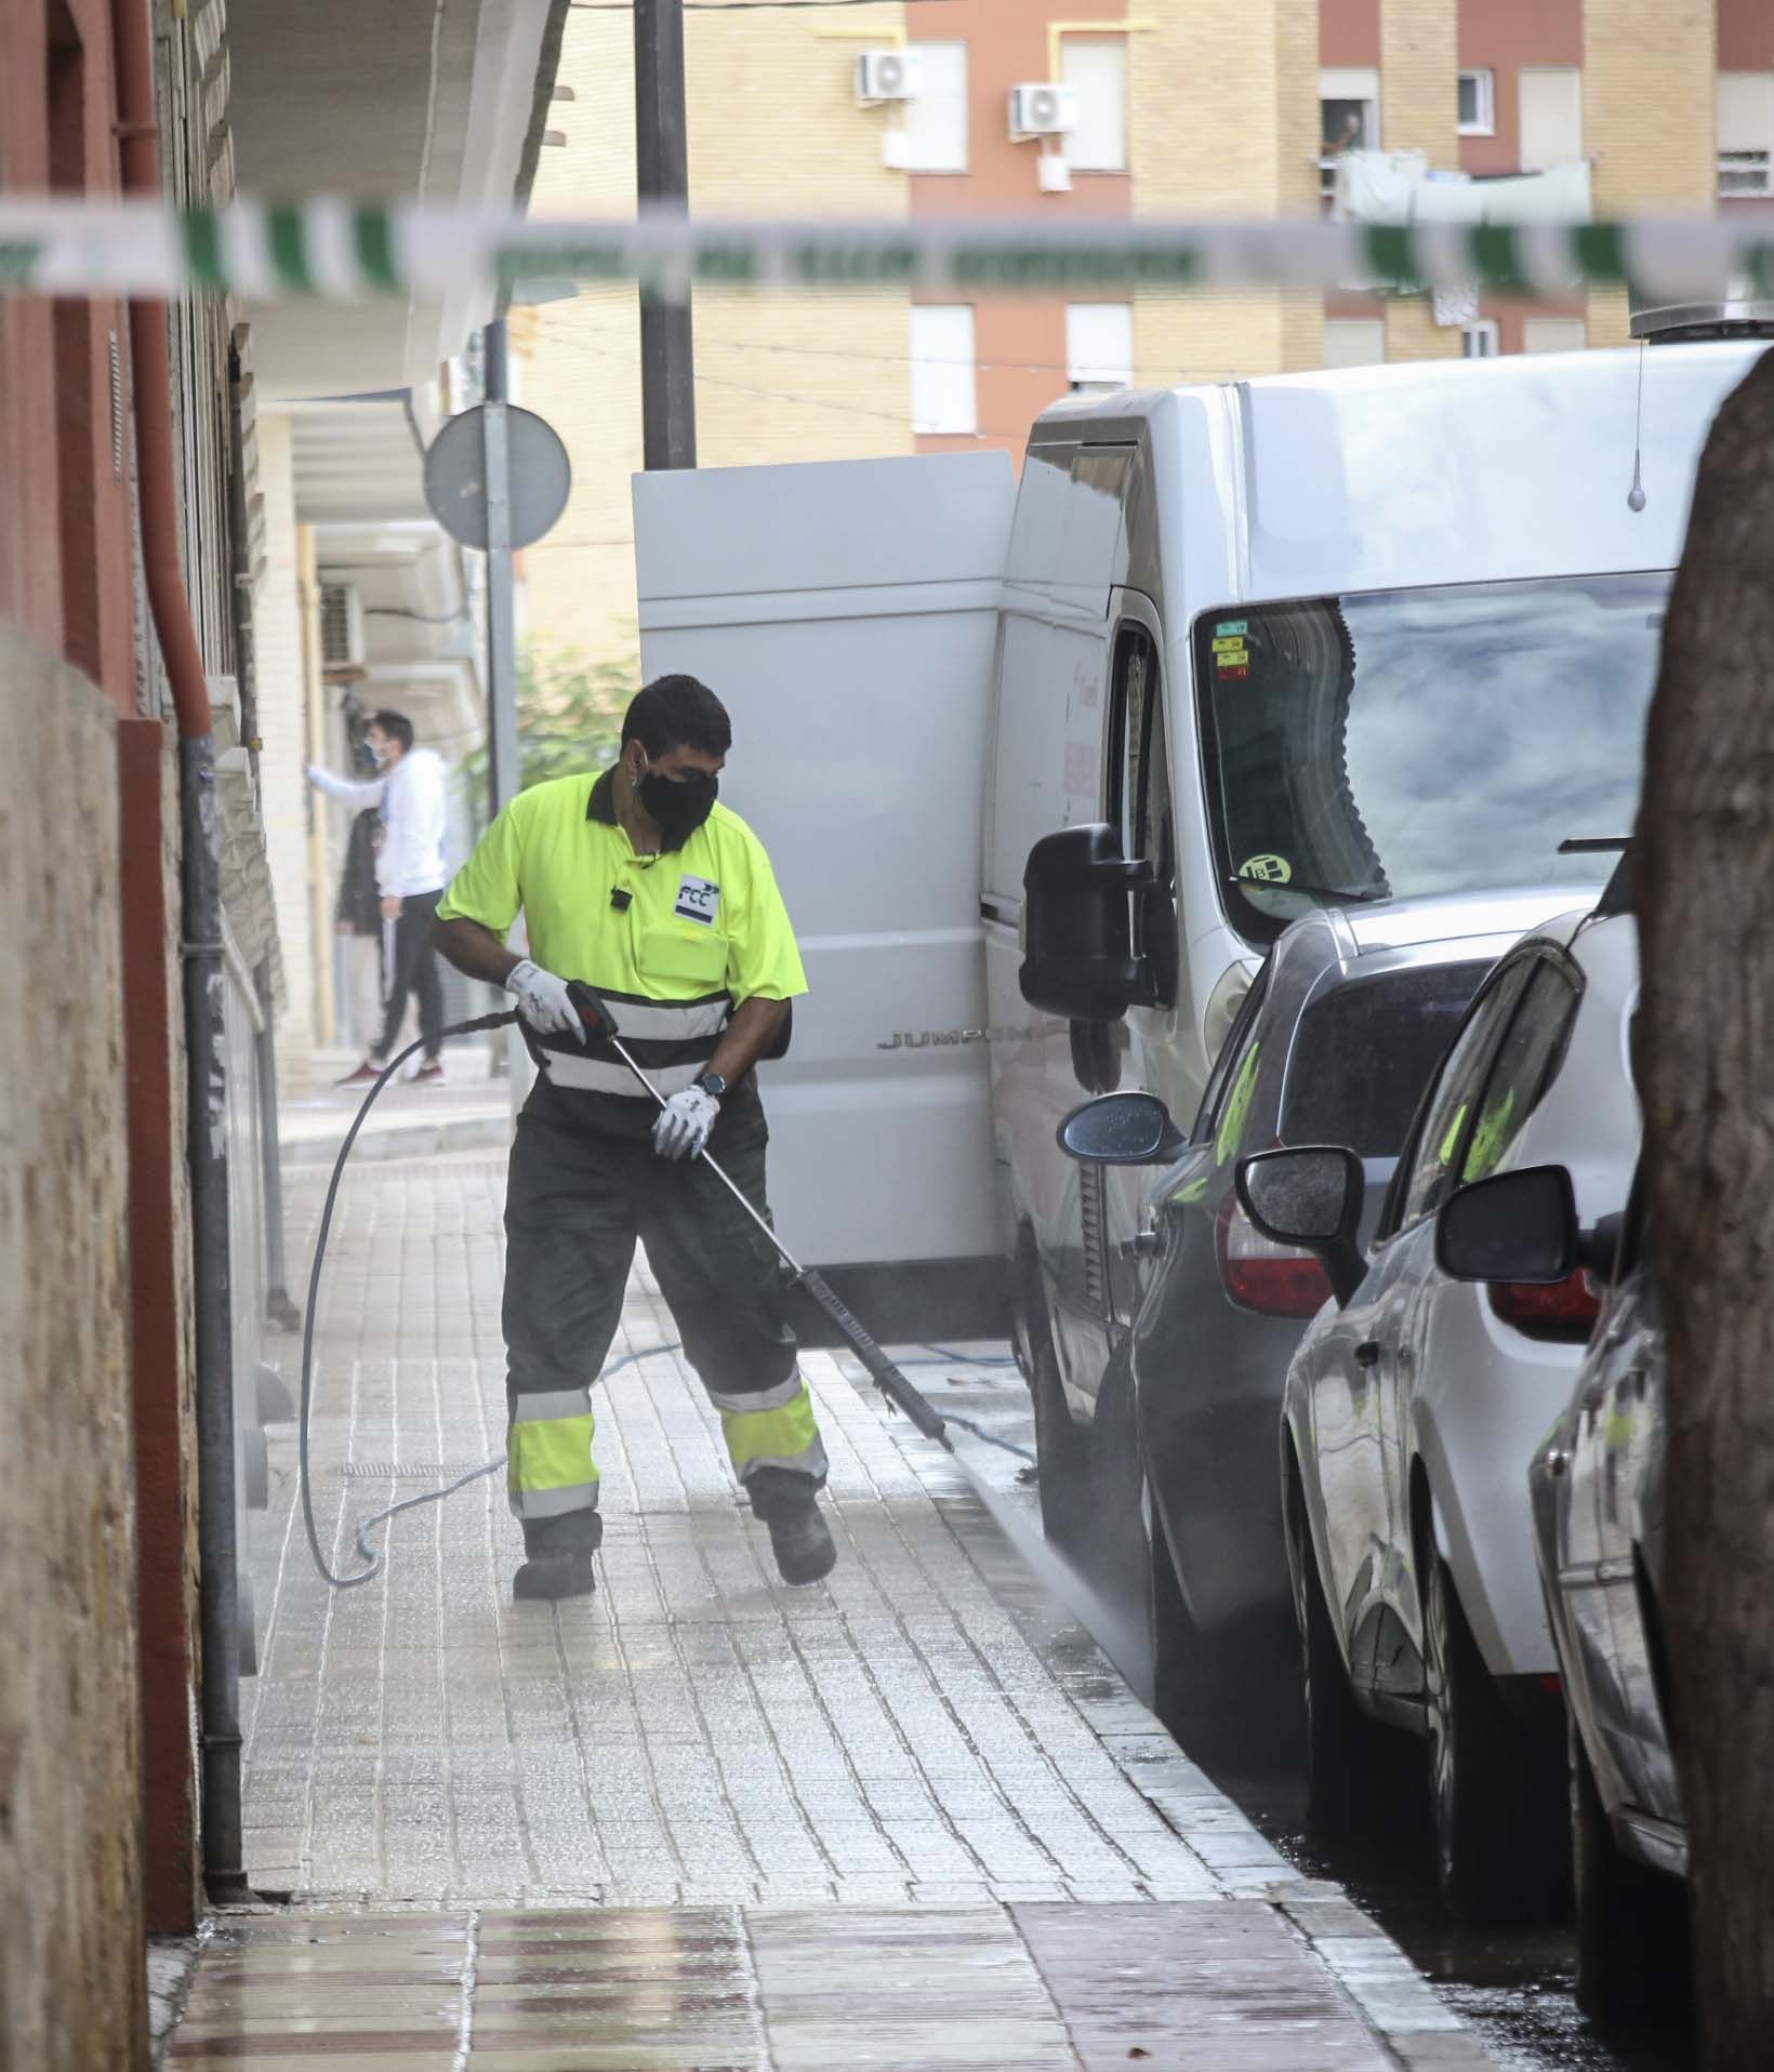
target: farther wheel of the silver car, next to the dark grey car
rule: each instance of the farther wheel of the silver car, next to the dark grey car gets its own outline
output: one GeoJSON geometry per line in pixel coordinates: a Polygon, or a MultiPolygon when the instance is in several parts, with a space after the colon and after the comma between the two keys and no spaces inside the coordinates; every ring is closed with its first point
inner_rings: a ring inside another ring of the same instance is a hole
{"type": "Polygon", "coordinates": [[[1297,1477],[1287,1492],[1287,1564],[1293,1577],[1293,1620],[1299,1629],[1299,1689],[1306,1709],[1306,1819],[1328,1840],[1380,1832],[1397,1819],[1405,1796],[1409,1751],[1401,1734],[1368,1718],[1355,1703],[1330,1606],[1318,1579],[1312,1527],[1297,1477]]]}

